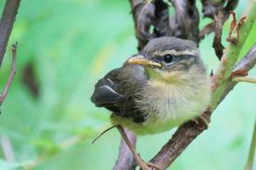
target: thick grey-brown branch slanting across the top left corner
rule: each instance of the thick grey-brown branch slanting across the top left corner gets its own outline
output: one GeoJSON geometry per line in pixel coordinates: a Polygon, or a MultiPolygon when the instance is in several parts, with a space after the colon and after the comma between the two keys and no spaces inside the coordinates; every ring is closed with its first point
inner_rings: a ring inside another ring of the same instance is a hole
{"type": "Polygon", "coordinates": [[[7,0],[0,20],[0,68],[21,0],[7,0]]]}

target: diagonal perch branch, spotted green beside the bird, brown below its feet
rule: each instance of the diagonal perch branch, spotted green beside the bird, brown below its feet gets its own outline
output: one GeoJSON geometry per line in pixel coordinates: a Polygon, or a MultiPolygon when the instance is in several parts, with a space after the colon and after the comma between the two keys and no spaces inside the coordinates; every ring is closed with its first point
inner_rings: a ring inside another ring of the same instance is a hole
{"type": "MultiPolygon", "coordinates": [[[[247,9],[247,19],[244,25],[240,28],[240,34],[243,36],[238,38],[239,46],[230,43],[226,47],[226,51],[222,56],[222,60],[220,65],[217,68],[216,73],[212,78],[212,88],[213,95],[212,101],[208,107],[208,110],[203,113],[203,117],[210,120],[211,113],[216,109],[219,101],[224,98],[223,91],[226,89],[230,81],[232,69],[235,66],[235,62],[239,56],[240,50],[243,47],[245,40],[254,24],[254,20],[256,16],[254,15],[256,10],[256,2],[250,1],[247,9]]],[[[251,58],[253,56],[247,55],[247,58],[251,58]]],[[[244,65],[254,66],[253,60],[246,60],[252,63],[244,63],[244,65]]],[[[240,64],[240,63],[239,63],[240,64]]],[[[248,68],[251,69],[251,68],[248,68]]],[[[226,92],[227,94],[228,92],[226,92]]],[[[226,96],[226,95],[225,95],[226,96]]],[[[171,140],[167,142],[166,145],[162,147],[162,150],[158,152],[158,154],[151,160],[152,163],[157,164],[162,168],[167,168],[171,165],[171,163],[182,153],[185,148],[190,145],[190,142],[193,141],[201,132],[204,130],[203,123],[195,124],[193,122],[185,123],[180,128],[177,129],[175,134],[171,137],[171,140]]]]}

